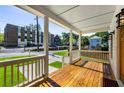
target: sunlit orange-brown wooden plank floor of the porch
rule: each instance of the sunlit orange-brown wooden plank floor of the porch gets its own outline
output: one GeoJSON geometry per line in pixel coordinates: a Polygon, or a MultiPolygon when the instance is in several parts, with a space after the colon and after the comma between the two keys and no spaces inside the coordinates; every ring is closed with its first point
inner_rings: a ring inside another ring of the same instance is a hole
{"type": "MultiPolygon", "coordinates": [[[[74,65],[66,65],[49,75],[49,79],[40,83],[39,87],[105,87],[106,79],[114,80],[110,66],[98,62],[81,61],[74,65]]],[[[111,82],[113,83],[113,82],[111,82]]],[[[108,84],[109,86],[113,86],[108,84]]],[[[116,84],[115,84],[116,86],[116,84]]]]}

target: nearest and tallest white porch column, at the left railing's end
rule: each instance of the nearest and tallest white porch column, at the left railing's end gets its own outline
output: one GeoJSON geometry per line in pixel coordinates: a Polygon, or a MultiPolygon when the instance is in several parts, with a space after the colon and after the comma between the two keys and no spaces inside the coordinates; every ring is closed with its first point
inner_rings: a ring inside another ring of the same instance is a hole
{"type": "Polygon", "coordinates": [[[44,52],[45,52],[45,74],[48,77],[48,32],[49,32],[49,19],[47,16],[44,17],[44,52]]]}

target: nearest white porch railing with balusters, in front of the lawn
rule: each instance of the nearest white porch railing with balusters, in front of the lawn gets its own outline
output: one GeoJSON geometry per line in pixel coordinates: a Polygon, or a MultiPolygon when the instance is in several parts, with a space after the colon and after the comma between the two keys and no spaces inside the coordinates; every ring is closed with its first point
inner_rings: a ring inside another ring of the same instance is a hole
{"type": "Polygon", "coordinates": [[[47,74],[45,66],[45,55],[0,62],[0,82],[4,87],[27,86],[47,74]]]}

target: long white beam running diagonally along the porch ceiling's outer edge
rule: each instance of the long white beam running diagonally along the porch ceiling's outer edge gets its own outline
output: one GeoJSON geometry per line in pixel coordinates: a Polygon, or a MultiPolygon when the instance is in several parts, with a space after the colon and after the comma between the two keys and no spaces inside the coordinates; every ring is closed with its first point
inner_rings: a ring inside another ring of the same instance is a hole
{"type": "Polygon", "coordinates": [[[46,15],[46,16],[50,17],[52,19],[52,21],[54,20],[53,22],[57,23],[58,25],[63,25],[64,27],[67,27],[78,33],[81,32],[78,28],[74,27],[73,25],[71,25],[70,23],[65,21],[64,19],[58,17],[57,15],[55,15],[53,12],[49,11],[42,5],[16,5],[16,6],[21,9],[24,9],[28,12],[31,12],[35,15],[38,15],[38,16],[46,15]]]}

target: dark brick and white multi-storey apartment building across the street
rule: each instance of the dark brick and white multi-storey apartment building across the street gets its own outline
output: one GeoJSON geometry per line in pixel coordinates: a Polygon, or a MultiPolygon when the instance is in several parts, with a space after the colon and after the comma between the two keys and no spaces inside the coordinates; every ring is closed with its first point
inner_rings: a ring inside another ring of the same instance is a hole
{"type": "MultiPolygon", "coordinates": [[[[37,31],[30,27],[7,24],[4,29],[5,46],[22,47],[37,45],[37,31]]],[[[43,44],[43,32],[39,33],[39,44],[43,44]]]]}

